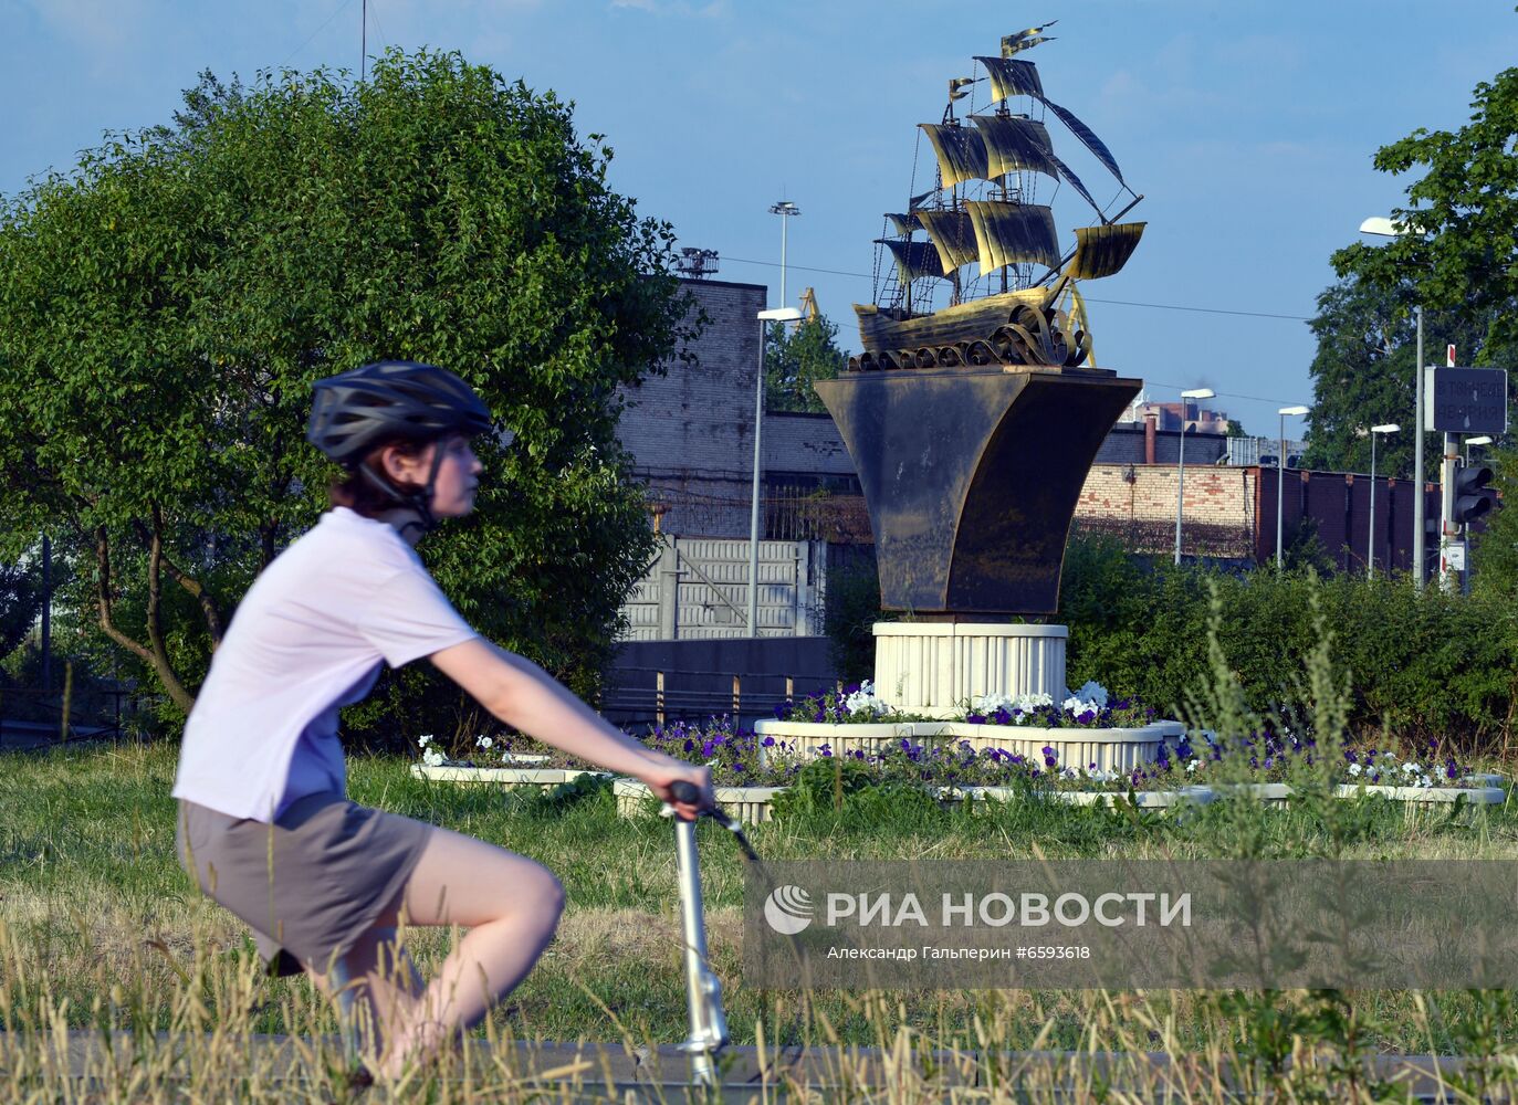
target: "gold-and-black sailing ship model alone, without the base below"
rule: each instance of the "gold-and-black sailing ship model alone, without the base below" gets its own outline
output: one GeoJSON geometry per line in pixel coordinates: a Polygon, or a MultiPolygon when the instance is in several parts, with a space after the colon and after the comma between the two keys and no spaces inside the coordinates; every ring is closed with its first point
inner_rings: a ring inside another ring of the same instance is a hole
{"type": "MultiPolygon", "coordinates": [[[[982,74],[949,80],[943,118],[920,124],[935,181],[911,196],[906,211],[885,216],[893,234],[876,240],[876,302],[855,304],[864,352],[850,358],[850,369],[1073,369],[1090,361],[1078,282],[1126,264],[1145,225],[1117,220],[1143,197],[1123,181],[1107,144],[1046,97],[1038,70],[1017,56],[1050,41],[1043,33],[1050,26],[1005,36],[999,58],[976,58],[982,74]],[[976,112],[982,83],[990,103],[976,112]],[[965,97],[972,108],[959,118],[956,105],[965,97]],[[1117,197],[1128,202],[1114,217],[1055,153],[1050,115],[1117,181],[1117,197]],[[1061,252],[1053,209],[1038,193],[1064,185],[1094,220],[1061,252]],[[946,287],[947,305],[934,310],[946,287]]],[[[908,194],[914,191],[915,181],[908,194]]]]}

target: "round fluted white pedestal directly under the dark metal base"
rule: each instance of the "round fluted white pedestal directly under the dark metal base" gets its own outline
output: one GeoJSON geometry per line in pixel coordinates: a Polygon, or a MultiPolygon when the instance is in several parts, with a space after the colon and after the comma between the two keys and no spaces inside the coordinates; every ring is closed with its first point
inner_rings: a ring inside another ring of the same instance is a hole
{"type": "Polygon", "coordinates": [[[1064,625],[876,622],[874,692],[906,713],[955,715],[984,694],[1064,698],[1064,625]]]}

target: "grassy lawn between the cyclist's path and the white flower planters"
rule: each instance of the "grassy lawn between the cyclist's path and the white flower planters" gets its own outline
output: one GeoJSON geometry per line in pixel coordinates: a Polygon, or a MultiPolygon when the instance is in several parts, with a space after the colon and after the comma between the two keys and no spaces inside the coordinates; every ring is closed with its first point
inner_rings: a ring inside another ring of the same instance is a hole
{"type": "MultiPolygon", "coordinates": [[[[12,1029],[8,1046],[65,1026],[102,1034],[335,1031],[304,981],[258,976],[241,924],[199,896],[176,864],[168,798],[175,754],[172,745],[73,745],[0,756],[0,1023],[12,1029]]],[[[668,823],[619,818],[604,800],[554,808],[493,788],[427,783],[411,779],[399,759],[355,759],[349,785],[361,803],[495,841],[563,879],[569,905],[556,943],[483,1035],[630,1046],[685,1037],[668,823]]],[[[1035,850],[1049,858],[1228,856],[1240,832],[1237,814],[1227,809],[1233,804],[1184,821],[1044,803],[917,811],[883,823],[846,809],[759,826],[753,841],[773,859],[1031,858],[1035,850]]],[[[1336,848],[1363,858],[1518,858],[1510,803],[1451,815],[1448,808],[1377,800],[1337,826],[1296,809],[1252,824],[1257,855],[1336,848]]],[[[1518,1031],[1518,1014],[1501,996],[1463,991],[754,991],[739,978],[741,859],[721,830],[704,826],[700,838],[707,926],[735,1043],[891,1046],[909,1038],[952,1049],[1088,1050],[1099,1041],[1104,1050],[1228,1052],[1269,1066],[1283,1047],[1290,1053],[1302,1040],[1312,1044],[1302,1026],[1330,1008],[1343,1011],[1350,1028],[1325,1031],[1328,1049],[1348,1038],[1381,1053],[1485,1047],[1500,1055],[1518,1031]]],[[[410,940],[424,973],[446,940],[424,932],[410,940]]]]}

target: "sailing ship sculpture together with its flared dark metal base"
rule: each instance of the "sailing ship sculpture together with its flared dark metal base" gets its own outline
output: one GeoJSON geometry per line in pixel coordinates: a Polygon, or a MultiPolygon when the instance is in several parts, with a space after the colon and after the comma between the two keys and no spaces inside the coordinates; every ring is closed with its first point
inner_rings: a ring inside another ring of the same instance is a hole
{"type": "Polygon", "coordinates": [[[1085,475],[1142,386],[1091,366],[1078,291],[1132,255],[1143,223],[1117,219],[1140,196],[1017,56],[1047,41],[1043,30],[1008,35],[1000,58],[978,59],[984,77],[950,82],[943,121],[923,126],[934,187],[888,216],[897,234],[880,238],[883,294],[855,308],[864,352],[853,372],[815,386],[859,474],[880,603],[917,622],[1003,625],[1058,609],[1085,475]],[[968,121],[956,118],[981,80],[990,106],[975,112],[972,100],[968,121]],[[1116,178],[1111,206],[1129,197],[1114,219],[1055,153],[1050,115],[1116,178]],[[1064,253],[1040,187],[1069,187],[1096,211],[1064,253]]]}

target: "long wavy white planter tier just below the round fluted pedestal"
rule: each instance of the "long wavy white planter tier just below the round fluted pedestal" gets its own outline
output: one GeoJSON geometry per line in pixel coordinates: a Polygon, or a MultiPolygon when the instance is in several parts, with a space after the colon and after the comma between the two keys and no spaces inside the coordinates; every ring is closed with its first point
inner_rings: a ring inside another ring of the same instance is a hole
{"type": "Polygon", "coordinates": [[[803,721],[761,721],[761,736],[773,736],[791,748],[762,748],[765,762],[780,756],[808,759],[826,744],[835,756],[885,751],[902,741],[914,744],[968,744],[975,751],[1000,748],[1043,763],[1044,747],[1053,748],[1061,767],[1098,771],[1131,771],[1152,763],[1179,722],[1155,722],[1142,729],[1040,729],[1034,726],[972,726],[964,721],[903,721],[874,726],[824,726],[803,721]]]}

